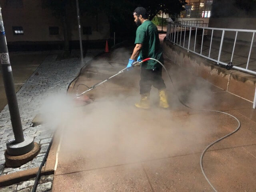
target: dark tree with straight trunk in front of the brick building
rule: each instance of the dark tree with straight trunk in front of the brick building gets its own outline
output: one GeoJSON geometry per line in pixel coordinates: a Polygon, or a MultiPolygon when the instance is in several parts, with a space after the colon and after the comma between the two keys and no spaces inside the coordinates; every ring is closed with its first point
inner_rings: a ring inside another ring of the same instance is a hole
{"type": "Polygon", "coordinates": [[[60,18],[62,20],[63,31],[64,31],[64,57],[70,54],[67,11],[71,3],[72,3],[71,0],[42,0],[43,8],[51,9],[52,14],[55,17],[60,18]]]}

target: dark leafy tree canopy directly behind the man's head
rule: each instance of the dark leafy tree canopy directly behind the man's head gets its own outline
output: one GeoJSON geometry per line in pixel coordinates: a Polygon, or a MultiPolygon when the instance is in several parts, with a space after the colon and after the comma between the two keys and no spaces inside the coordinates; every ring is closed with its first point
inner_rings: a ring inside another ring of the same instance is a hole
{"type": "Polygon", "coordinates": [[[81,12],[105,13],[110,23],[111,34],[116,31],[122,36],[127,36],[136,28],[132,15],[136,7],[146,8],[149,19],[152,20],[160,10],[172,15],[180,14],[184,10],[186,0],[80,0],[79,4],[81,12]]]}

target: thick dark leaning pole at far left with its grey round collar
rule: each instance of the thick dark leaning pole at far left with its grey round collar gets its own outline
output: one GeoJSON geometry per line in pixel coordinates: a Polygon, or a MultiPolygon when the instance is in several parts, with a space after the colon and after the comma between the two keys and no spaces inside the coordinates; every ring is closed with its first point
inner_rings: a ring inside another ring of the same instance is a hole
{"type": "MultiPolygon", "coordinates": [[[[6,141],[7,153],[11,156],[24,155],[34,148],[34,138],[24,136],[22,130],[22,122],[20,120],[20,111],[18,107],[16,91],[12,76],[12,66],[10,63],[9,52],[4,31],[4,22],[0,7],[0,64],[2,67],[2,78],[4,89],[8,102],[10,120],[12,123],[12,131],[14,139],[6,141]]],[[[28,157],[30,155],[28,154],[28,157]]]]}

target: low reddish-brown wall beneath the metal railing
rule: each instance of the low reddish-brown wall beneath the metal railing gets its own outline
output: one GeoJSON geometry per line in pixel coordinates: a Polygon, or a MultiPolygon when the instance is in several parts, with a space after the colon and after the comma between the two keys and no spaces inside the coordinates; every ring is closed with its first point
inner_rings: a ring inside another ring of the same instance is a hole
{"type": "Polygon", "coordinates": [[[256,77],[237,70],[226,70],[214,62],[164,40],[164,54],[178,66],[202,77],[213,85],[253,102],[256,77]]]}

